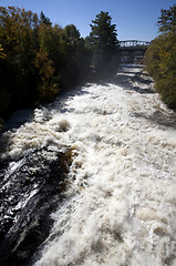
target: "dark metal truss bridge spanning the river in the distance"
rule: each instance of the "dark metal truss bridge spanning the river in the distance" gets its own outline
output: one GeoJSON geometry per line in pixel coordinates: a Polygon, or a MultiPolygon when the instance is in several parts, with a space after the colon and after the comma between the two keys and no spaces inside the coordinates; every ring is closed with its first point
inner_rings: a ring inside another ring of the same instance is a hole
{"type": "Polygon", "coordinates": [[[120,58],[122,63],[141,63],[151,42],[126,40],[120,41],[120,58]]]}

